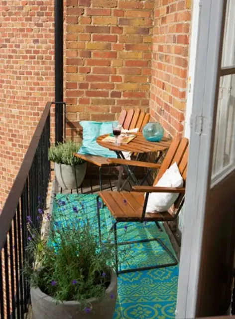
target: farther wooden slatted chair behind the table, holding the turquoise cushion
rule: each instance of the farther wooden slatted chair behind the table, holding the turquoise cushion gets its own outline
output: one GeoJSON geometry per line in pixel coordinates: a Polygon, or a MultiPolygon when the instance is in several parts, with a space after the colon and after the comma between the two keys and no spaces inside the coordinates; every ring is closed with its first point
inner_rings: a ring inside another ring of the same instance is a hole
{"type": "MultiPolygon", "coordinates": [[[[148,123],[149,119],[150,119],[149,113],[145,113],[141,111],[139,108],[137,108],[134,110],[130,109],[128,111],[122,110],[118,118],[118,123],[121,124],[123,129],[125,130],[138,128],[139,132],[141,132],[144,125],[148,123]]],[[[102,156],[83,155],[83,154],[76,154],[76,153],[74,153],[74,156],[99,166],[99,182],[100,182],[100,188],[102,190],[101,169],[104,166],[112,166],[114,164],[110,162],[108,158],[105,158],[102,156]]],[[[122,170],[120,170],[119,179],[121,177],[121,172],[122,170]]]]}

